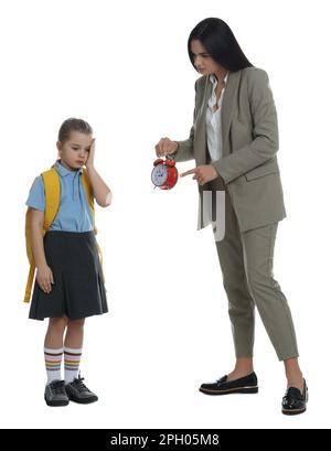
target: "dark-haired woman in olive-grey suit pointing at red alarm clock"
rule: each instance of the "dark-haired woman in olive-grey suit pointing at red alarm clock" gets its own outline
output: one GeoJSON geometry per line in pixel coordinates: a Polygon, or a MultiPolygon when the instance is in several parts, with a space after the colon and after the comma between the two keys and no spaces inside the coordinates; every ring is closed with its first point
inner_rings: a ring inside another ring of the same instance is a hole
{"type": "Polygon", "coordinates": [[[276,232],[286,211],[276,157],[277,112],[268,75],[249,63],[221,19],[200,22],[190,34],[188,50],[193,67],[202,75],[195,83],[190,138],[162,138],[156,151],[158,157],[173,154],[178,162],[195,159],[196,168],[181,175],[193,174],[197,181],[199,228],[211,222],[203,213],[205,192],[212,192],[212,217],[218,202],[215,193],[225,195],[225,235],[215,243],[236,352],[233,372],[202,384],[200,390],[209,395],[258,391],[253,365],[256,305],[285,364],[288,385],[282,412],[302,414],[308,389],[298,363],[295,327],[287,300],[273,277],[276,232]]]}

